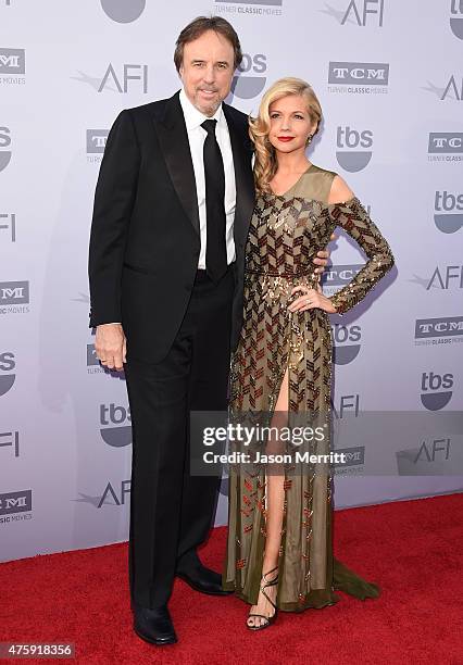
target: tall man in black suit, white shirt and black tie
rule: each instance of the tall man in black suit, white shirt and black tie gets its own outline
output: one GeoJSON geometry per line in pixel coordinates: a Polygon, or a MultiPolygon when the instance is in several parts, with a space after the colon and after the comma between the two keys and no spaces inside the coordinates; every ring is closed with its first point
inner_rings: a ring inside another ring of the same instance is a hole
{"type": "Polygon", "coordinates": [[[134,627],[154,644],[176,641],[175,576],[225,594],[197,554],[220,480],[190,476],[187,426],[190,411],[227,406],[254,202],[248,120],[223,103],[241,61],[237,34],[199,17],[174,61],[183,90],[122,111],[111,128],[89,252],[96,351],[107,367],[125,367],[130,403],[134,627]]]}

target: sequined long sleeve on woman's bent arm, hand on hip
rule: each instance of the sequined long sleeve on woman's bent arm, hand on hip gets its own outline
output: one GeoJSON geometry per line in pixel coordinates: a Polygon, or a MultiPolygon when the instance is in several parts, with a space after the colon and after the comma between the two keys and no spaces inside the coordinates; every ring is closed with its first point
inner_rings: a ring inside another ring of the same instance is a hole
{"type": "Polygon", "coordinates": [[[368,261],[351,281],[330,297],[338,314],[348,312],[390,271],[395,259],[387,240],[356,197],[345,203],[331,203],[329,215],[365,252],[368,261]]]}

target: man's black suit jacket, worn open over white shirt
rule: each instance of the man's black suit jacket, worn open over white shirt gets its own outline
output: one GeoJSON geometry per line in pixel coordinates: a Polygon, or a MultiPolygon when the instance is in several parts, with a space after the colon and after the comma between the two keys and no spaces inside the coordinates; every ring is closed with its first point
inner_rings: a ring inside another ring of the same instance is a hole
{"type": "MultiPolygon", "coordinates": [[[[254,203],[247,116],[223,104],[236,179],[232,348],[242,323],[245,244],[254,203]]],[[[178,98],[120,113],[108,136],[90,234],[90,327],[121,322],[130,359],[167,354],[190,298],[199,212],[178,98]]]]}

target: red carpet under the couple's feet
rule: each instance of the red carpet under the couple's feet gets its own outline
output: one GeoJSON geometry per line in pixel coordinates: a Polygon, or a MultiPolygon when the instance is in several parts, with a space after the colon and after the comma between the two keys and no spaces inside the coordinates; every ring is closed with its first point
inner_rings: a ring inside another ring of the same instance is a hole
{"type": "MultiPolygon", "coordinates": [[[[335,553],[381,586],[379,599],[340,593],[337,605],[280,613],[275,626],[251,633],[239,600],[201,595],[177,581],[170,606],[179,642],[164,648],[132,631],[125,543],[4,563],[0,641],[73,641],[85,664],[458,665],[462,527],[463,494],[337,511],[335,553]]],[[[224,545],[225,528],[215,529],[204,563],[220,569],[224,545]]]]}

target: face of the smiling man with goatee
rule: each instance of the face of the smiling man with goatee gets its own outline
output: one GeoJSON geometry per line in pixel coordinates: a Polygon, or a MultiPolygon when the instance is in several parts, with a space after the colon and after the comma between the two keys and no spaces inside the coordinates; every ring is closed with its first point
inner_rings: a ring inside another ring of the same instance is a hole
{"type": "Polygon", "coordinates": [[[214,30],[207,30],[184,47],[180,77],[185,92],[204,115],[214,115],[230,90],[234,55],[228,39],[214,30]]]}

